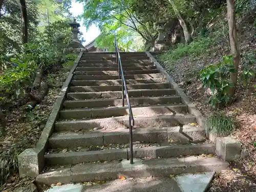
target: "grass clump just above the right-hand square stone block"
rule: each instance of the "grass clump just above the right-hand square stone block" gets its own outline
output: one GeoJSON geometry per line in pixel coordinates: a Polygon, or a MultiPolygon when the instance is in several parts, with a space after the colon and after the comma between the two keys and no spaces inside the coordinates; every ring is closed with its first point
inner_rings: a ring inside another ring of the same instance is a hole
{"type": "Polygon", "coordinates": [[[224,113],[211,114],[206,121],[205,131],[217,137],[230,135],[237,127],[237,122],[224,113]]]}

